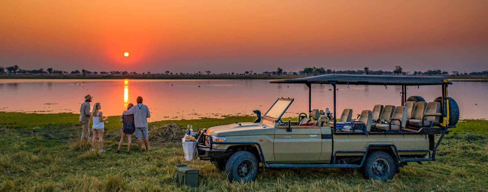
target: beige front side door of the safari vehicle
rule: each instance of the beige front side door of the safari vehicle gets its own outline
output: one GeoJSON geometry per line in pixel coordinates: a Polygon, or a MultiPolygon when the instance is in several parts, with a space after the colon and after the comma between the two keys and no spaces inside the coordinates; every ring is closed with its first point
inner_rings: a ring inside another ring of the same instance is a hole
{"type": "Polygon", "coordinates": [[[276,162],[318,161],[322,152],[320,126],[278,126],[274,135],[274,156],[276,162]]]}

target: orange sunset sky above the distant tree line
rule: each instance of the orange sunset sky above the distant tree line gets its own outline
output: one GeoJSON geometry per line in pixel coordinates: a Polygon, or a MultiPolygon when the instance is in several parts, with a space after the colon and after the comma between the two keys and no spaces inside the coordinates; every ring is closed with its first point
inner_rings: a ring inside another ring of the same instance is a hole
{"type": "Polygon", "coordinates": [[[0,66],[11,65],[481,71],[488,0],[1,0],[0,66]]]}

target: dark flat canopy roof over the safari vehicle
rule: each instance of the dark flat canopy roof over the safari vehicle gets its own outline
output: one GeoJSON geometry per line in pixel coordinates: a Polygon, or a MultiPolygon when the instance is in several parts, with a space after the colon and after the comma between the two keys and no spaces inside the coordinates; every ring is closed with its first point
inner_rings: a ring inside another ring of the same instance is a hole
{"type": "MultiPolygon", "coordinates": [[[[295,79],[274,80],[269,83],[296,83],[296,84],[331,84],[337,85],[404,85],[404,86],[426,86],[442,85],[444,76],[419,77],[403,75],[346,75],[346,74],[326,74],[312,77],[302,77],[295,79]]],[[[449,84],[452,82],[448,81],[449,84]]]]}

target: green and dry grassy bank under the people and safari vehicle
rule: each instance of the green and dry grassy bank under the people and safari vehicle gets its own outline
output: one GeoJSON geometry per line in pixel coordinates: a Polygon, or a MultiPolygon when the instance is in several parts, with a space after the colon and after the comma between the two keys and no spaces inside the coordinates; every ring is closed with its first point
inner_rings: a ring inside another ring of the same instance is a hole
{"type": "MultiPolygon", "coordinates": [[[[179,138],[197,128],[249,122],[227,117],[150,123],[148,154],[116,154],[118,116],[109,117],[106,153],[89,152],[78,140],[78,115],[0,112],[0,191],[485,191],[488,188],[488,122],[466,120],[438,149],[436,162],[410,163],[386,183],[346,169],[266,169],[256,182],[228,183],[208,161],[184,161],[179,138]],[[169,126],[167,124],[170,124],[169,126]],[[200,170],[200,188],[175,185],[177,164],[200,170]]],[[[122,150],[126,149],[125,142],[122,150]]]]}

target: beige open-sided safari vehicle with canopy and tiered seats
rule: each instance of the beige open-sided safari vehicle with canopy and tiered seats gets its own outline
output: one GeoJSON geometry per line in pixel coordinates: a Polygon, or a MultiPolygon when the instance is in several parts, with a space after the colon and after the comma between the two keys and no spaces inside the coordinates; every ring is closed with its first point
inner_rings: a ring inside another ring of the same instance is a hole
{"type": "Polygon", "coordinates": [[[308,113],[298,122],[281,120],[292,98],[279,98],[254,122],[241,122],[201,129],[197,153],[224,170],[230,182],[256,179],[258,168],[357,168],[366,178],[386,181],[408,162],[435,161],[436,150],[449,128],[459,119],[456,102],[448,97],[444,77],[328,74],[270,83],[305,84],[309,88],[308,113]],[[311,108],[311,84],[333,87],[333,111],[311,108]],[[337,121],[337,85],[401,86],[401,105],[374,105],[351,122],[345,109],[337,121]],[[441,96],[425,102],[407,98],[407,87],[442,86],[441,96]],[[349,123],[348,129],[346,125],[349,123]],[[437,142],[435,135],[440,135],[437,142]]]}

